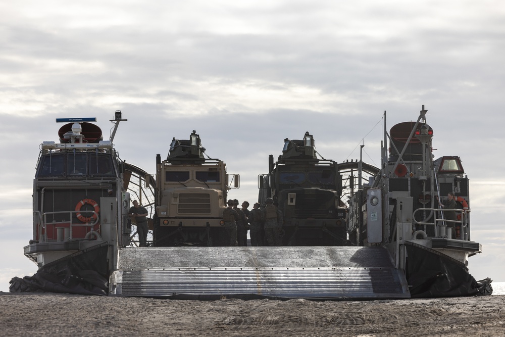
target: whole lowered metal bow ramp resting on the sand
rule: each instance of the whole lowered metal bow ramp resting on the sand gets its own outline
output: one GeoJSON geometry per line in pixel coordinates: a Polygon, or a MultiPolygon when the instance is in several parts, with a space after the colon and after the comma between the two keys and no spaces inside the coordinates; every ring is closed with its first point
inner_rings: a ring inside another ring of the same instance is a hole
{"type": "Polygon", "coordinates": [[[112,296],[172,299],[409,298],[379,247],[146,247],[119,251],[112,296]]]}

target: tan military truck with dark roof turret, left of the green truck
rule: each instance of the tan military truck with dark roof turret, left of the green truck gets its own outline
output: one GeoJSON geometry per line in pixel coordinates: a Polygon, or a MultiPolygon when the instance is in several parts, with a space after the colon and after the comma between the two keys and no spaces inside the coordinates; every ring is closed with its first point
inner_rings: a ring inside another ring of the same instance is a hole
{"type": "Polygon", "coordinates": [[[223,210],[240,177],[226,173],[221,160],[205,158],[205,150],[193,130],[189,140],[172,140],[165,161],[157,155],[154,246],[225,244],[223,210]]]}

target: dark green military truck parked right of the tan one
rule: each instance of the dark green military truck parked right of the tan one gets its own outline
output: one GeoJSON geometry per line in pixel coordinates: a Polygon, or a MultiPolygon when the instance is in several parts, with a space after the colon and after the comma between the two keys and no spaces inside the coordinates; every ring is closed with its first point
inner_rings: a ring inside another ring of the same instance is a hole
{"type": "Polygon", "coordinates": [[[270,155],[269,173],[259,176],[259,187],[260,203],[272,198],[282,211],[283,245],[347,245],[337,163],[317,158],[309,132],[301,140],[284,139],[282,155],[276,163],[270,155]]]}

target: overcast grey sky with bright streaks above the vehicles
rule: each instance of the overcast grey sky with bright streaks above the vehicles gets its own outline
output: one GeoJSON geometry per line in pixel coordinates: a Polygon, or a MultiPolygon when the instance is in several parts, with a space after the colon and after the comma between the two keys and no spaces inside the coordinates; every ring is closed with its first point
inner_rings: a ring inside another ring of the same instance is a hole
{"type": "Polygon", "coordinates": [[[67,1],[0,3],[0,291],[36,266],[34,168],[55,118],[114,111],[122,159],[154,173],[172,137],[194,129],[207,154],[241,176],[232,198],[255,201],[257,176],[283,139],[314,135],[337,162],[380,165],[388,129],[424,104],[436,157],[460,156],[471,179],[469,260],[505,281],[505,4],[424,1],[67,1]]]}

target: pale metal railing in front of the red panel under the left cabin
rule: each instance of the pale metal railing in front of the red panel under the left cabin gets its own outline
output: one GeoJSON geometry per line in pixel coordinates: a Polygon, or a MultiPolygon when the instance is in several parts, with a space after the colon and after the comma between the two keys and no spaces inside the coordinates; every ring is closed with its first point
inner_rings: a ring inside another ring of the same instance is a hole
{"type": "MultiPolygon", "coordinates": [[[[74,214],[77,214],[77,213],[81,213],[81,211],[61,211],[61,212],[45,212],[45,213],[40,213],[40,211],[36,211],[35,212],[35,215],[37,217],[37,227],[38,227],[38,238],[39,238],[39,242],[47,242],[47,226],[48,225],[51,225],[51,226],[54,226],[54,228],[57,228],[60,229],[64,229],[64,228],[69,228],[69,237],[68,237],[68,240],[72,240],[74,239],[73,237],[73,228],[74,227],[84,227],[84,228],[91,228],[90,231],[87,231],[86,230],[86,236],[85,237],[78,237],[79,239],[87,239],[88,235],[93,234],[96,236],[96,239],[102,239],[102,237],[100,237],[100,235],[95,232],[93,229],[93,227],[98,223],[98,220],[99,220],[99,217],[98,217],[98,213],[96,213],[95,211],[86,211],[86,212],[90,212],[90,213],[93,213],[93,216],[96,216],[96,219],[94,220],[93,223],[74,223],[73,222],[73,215],[74,214]],[[47,216],[48,215],[56,215],[56,214],[68,214],[70,215],[69,218],[70,220],[64,220],[64,221],[52,221],[52,222],[47,222],[47,216]],[[66,227],[66,226],[62,226],[60,228],[56,227],[56,225],[69,225],[69,227],[66,227]],[[42,230],[45,231],[45,235],[42,234],[42,230]]],[[[57,233],[58,235],[58,233],[57,233]]],[[[53,235],[53,239],[54,239],[54,235],[53,235]]],[[[57,240],[58,240],[58,237],[57,237],[57,240]]],[[[66,237],[63,238],[63,240],[66,240],[66,237]]]]}

